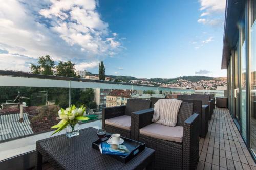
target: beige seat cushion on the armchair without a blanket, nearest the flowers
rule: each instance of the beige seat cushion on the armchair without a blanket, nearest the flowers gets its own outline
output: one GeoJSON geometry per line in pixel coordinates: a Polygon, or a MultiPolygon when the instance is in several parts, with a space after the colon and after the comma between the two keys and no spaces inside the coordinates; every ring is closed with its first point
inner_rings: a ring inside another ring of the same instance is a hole
{"type": "Polygon", "coordinates": [[[131,116],[123,115],[109,118],[105,120],[105,124],[125,130],[131,130],[131,116]]]}

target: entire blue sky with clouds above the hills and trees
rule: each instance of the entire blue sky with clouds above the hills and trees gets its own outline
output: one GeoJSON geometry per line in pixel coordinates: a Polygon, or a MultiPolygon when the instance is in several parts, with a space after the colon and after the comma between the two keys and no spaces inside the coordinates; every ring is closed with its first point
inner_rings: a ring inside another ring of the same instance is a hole
{"type": "Polygon", "coordinates": [[[225,0],[0,0],[0,70],[40,56],[137,78],[226,76],[225,0]]]}

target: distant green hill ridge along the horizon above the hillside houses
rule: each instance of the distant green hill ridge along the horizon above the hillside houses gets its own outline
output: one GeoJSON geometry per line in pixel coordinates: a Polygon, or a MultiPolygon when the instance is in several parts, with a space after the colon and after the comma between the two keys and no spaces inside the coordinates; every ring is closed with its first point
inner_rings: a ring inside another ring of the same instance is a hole
{"type": "MultiPolygon", "coordinates": [[[[91,72],[86,72],[86,75],[89,76],[95,76],[97,74],[93,74],[91,72]]],[[[181,76],[181,77],[176,77],[176,78],[170,78],[170,79],[163,79],[163,78],[136,78],[132,76],[114,76],[114,75],[106,75],[106,77],[111,77],[113,79],[117,80],[122,80],[124,82],[129,82],[130,80],[146,80],[146,81],[152,81],[156,83],[176,83],[178,79],[183,79],[183,80],[188,80],[191,82],[197,82],[201,80],[223,80],[225,78],[219,77],[219,78],[214,78],[214,77],[209,77],[209,76],[181,76]]]]}

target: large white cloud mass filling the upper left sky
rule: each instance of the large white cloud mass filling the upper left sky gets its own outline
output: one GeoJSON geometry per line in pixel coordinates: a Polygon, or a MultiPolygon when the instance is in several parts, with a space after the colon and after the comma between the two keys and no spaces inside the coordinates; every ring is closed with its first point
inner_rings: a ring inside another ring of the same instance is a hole
{"type": "Polygon", "coordinates": [[[97,0],[3,1],[0,50],[17,54],[16,58],[50,55],[81,67],[113,56],[121,50],[121,42],[117,33],[110,34],[96,8],[97,0]]]}

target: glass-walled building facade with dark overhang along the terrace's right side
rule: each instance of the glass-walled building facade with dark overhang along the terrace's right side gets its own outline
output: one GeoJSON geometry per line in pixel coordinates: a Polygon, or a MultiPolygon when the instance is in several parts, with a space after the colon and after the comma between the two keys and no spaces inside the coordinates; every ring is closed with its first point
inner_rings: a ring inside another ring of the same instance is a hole
{"type": "Polygon", "coordinates": [[[256,0],[226,3],[222,69],[228,108],[251,155],[256,155],[256,0]]]}

